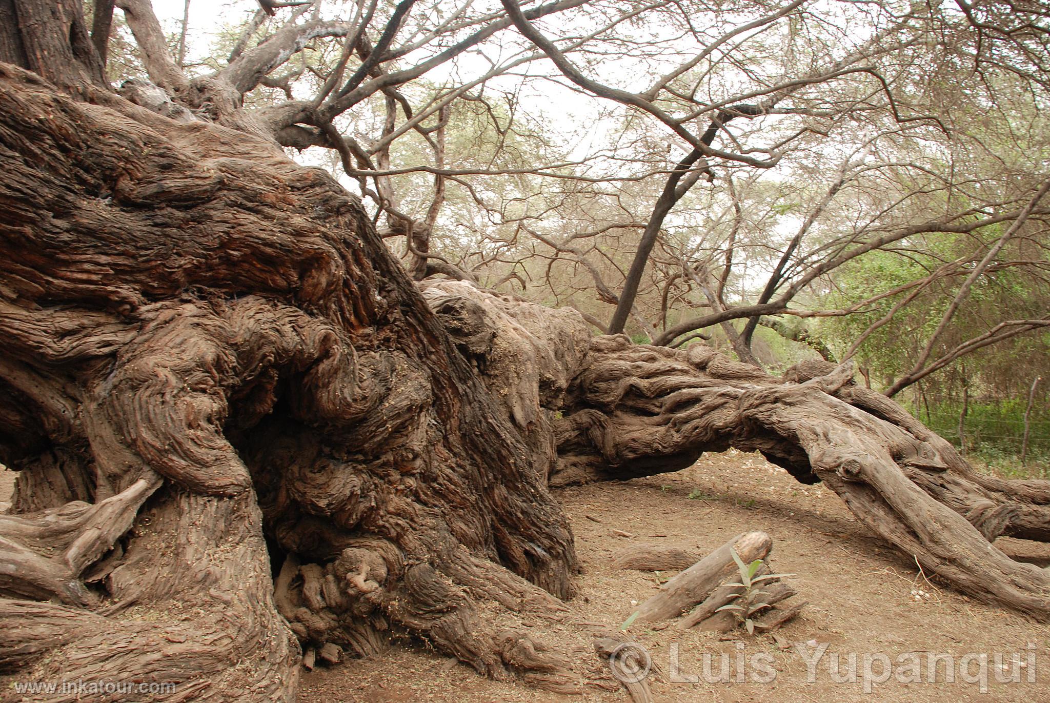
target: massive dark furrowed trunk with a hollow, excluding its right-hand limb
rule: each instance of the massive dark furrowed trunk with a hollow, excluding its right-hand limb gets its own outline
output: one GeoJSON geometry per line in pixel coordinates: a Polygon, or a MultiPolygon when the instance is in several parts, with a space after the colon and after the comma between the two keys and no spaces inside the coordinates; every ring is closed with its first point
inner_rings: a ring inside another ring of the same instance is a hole
{"type": "Polygon", "coordinates": [[[0,667],[291,700],[300,645],[407,633],[572,689],[520,624],[572,594],[539,404],[584,323],[489,339],[549,366],[500,398],[329,175],[87,97],[0,64],[0,667]]]}

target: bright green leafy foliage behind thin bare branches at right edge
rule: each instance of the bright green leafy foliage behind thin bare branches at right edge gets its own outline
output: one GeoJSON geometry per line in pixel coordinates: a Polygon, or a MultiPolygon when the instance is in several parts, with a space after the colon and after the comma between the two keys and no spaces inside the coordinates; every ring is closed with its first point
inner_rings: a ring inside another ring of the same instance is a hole
{"type": "MultiPolygon", "coordinates": [[[[1003,231],[1002,226],[994,226],[979,234],[987,246],[1003,231]]],[[[966,261],[972,251],[972,236],[941,235],[916,237],[909,243],[907,255],[872,252],[839,269],[836,291],[826,296],[823,305],[846,307],[880,291],[905,287],[925,278],[946,261],[966,261]]],[[[1004,261],[1020,262],[1025,257],[1050,264],[1045,252],[1030,250],[1024,242],[1011,242],[1001,254],[1004,261]]],[[[934,278],[925,288],[903,288],[855,314],[825,319],[822,331],[841,355],[870,326],[884,323],[860,345],[855,358],[860,367],[869,370],[873,387],[887,387],[921,359],[923,349],[970,270],[972,263],[961,266],[953,275],[934,278]],[[912,294],[914,301],[894,311],[895,306],[905,303],[906,295],[912,294]]],[[[1050,290],[1042,277],[1029,275],[1027,269],[1020,267],[989,268],[974,281],[926,363],[993,328],[999,321],[1044,316],[1048,305],[1050,290]]],[[[895,399],[959,446],[959,416],[965,389],[969,398],[964,422],[967,448],[990,462],[1005,466],[1010,462],[1007,457],[1021,453],[1029,387],[1035,376],[1050,377],[1048,358],[1050,335],[1014,337],[967,354],[895,399]]],[[[1031,417],[1029,455],[1036,458],[1050,453],[1048,399],[1050,394],[1044,381],[1037,388],[1031,417]]]]}

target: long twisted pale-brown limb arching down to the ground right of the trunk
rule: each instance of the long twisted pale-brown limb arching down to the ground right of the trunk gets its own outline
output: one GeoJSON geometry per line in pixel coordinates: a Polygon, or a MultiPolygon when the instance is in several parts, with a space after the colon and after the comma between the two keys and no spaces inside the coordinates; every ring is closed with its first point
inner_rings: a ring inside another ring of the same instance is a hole
{"type": "Polygon", "coordinates": [[[555,423],[552,485],[676,471],[705,451],[759,451],[824,481],[872,531],[927,572],[987,601],[1050,619],[1050,571],[1007,557],[1000,536],[1050,539],[1050,481],[982,476],[848,365],[782,378],[709,347],[595,337],[555,423]]]}

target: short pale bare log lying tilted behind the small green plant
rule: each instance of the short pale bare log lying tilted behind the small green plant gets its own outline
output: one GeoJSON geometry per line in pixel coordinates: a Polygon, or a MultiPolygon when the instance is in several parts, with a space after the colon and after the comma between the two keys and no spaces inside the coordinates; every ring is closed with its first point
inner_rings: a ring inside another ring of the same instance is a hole
{"type": "Polygon", "coordinates": [[[737,535],[662,585],[659,593],[638,606],[636,619],[643,622],[668,620],[705,600],[727,577],[737,572],[733,550],[747,564],[764,559],[772,549],[773,540],[764,532],[737,535]]]}

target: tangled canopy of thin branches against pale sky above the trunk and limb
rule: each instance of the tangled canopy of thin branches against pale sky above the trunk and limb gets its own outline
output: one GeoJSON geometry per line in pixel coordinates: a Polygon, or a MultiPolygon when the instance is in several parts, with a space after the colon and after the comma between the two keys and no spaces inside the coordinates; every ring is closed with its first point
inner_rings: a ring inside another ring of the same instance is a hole
{"type": "Polygon", "coordinates": [[[748,361],[763,316],[863,340],[954,298],[890,393],[1048,325],[1040,3],[242,3],[167,34],[117,6],[111,79],[339,169],[417,278],[748,361]]]}

